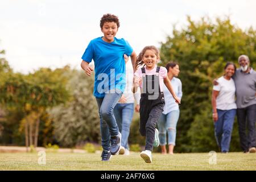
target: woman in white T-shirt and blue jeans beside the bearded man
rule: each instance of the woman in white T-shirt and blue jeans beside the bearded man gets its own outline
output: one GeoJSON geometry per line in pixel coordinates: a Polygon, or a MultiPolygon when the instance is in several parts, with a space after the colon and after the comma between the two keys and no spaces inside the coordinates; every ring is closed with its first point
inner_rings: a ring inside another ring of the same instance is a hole
{"type": "Polygon", "coordinates": [[[213,86],[212,107],[214,134],[217,144],[222,153],[227,153],[237,111],[236,85],[232,78],[236,72],[236,65],[227,63],[224,69],[225,75],[218,78],[218,85],[213,86]]]}

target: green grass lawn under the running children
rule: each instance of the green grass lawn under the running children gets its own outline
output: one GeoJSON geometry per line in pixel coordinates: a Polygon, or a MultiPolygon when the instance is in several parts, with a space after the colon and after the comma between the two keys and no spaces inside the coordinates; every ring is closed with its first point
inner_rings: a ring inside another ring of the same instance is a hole
{"type": "Polygon", "coordinates": [[[256,170],[256,154],[217,153],[217,164],[209,164],[208,153],[161,155],[153,153],[153,163],[146,164],[139,152],[115,155],[101,162],[100,154],[46,153],[46,164],[39,165],[38,153],[0,153],[0,170],[256,170]]]}

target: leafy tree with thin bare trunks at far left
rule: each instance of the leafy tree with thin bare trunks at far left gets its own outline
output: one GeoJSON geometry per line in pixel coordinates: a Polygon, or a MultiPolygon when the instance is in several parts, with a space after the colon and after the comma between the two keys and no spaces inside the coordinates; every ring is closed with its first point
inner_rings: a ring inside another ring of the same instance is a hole
{"type": "MultiPolygon", "coordinates": [[[[69,69],[69,68],[66,68],[69,69]]],[[[9,110],[20,110],[24,113],[20,130],[24,130],[26,147],[37,147],[40,117],[46,109],[65,103],[69,99],[65,89],[65,68],[52,71],[41,68],[35,73],[6,74],[0,83],[0,101],[9,110]]]]}

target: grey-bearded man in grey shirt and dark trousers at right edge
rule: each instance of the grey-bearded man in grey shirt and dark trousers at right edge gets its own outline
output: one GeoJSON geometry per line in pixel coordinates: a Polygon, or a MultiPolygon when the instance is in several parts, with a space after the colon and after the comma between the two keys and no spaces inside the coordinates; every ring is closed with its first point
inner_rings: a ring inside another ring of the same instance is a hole
{"type": "Polygon", "coordinates": [[[250,60],[246,55],[238,57],[240,69],[233,76],[236,84],[237,120],[240,144],[243,152],[256,152],[256,72],[250,68],[250,60]],[[246,125],[248,134],[246,135],[246,125]]]}

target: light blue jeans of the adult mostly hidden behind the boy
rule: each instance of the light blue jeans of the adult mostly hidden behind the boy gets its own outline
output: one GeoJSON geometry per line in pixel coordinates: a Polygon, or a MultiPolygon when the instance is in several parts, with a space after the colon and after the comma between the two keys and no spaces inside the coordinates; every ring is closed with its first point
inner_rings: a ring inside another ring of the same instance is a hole
{"type": "Polygon", "coordinates": [[[117,126],[122,134],[121,146],[129,150],[128,137],[130,134],[131,120],[133,119],[134,103],[117,104],[114,107],[114,115],[117,126]]]}

